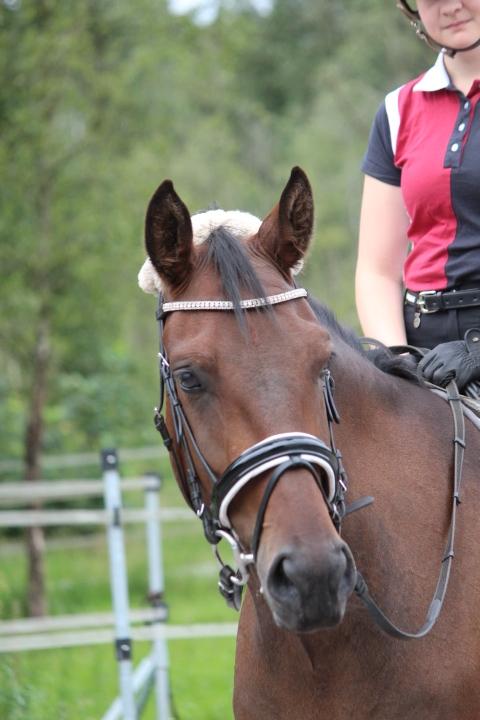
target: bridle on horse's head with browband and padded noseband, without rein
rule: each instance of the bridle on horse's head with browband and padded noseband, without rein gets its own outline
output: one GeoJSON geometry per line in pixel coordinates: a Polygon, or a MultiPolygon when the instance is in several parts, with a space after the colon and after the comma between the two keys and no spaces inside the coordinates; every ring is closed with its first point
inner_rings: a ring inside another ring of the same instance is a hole
{"type": "MultiPolygon", "coordinates": [[[[277,305],[301,297],[307,297],[304,288],[295,288],[285,293],[265,298],[242,300],[240,307],[244,310],[261,309],[277,305]]],[[[333,380],[328,369],[323,371],[322,386],[325,410],[329,429],[329,446],[322,440],[306,433],[282,433],[271,435],[244,450],[218,476],[210,467],[200,450],[193,431],[177,394],[175,381],[163,343],[165,317],[177,311],[233,311],[234,305],[225,300],[197,300],[164,302],[159,297],[157,321],[160,337],[160,402],[155,410],[155,427],[162,435],[165,446],[170,452],[177,476],[181,482],[191,507],[203,523],[208,542],[214,547],[215,554],[221,565],[219,589],[228,604],[240,606],[241,591],[248,580],[248,566],[256,561],[263,520],[269,499],[284,473],[290,470],[307,470],[315,480],[330,517],[339,530],[347,512],[344,495],[347,490],[346,475],[342,465],[342,456],[335,447],[333,423],[339,422],[339,415],[333,400],[333,380]],[[175,442],[165,424],[162,415],[164,395],[170,405],[175,442]],[[211,499],[208,504],[202,494],[197,467],[201,467],[210,480],[211,499]],[[237,533],[229,519],[229,508],[238,493],[252,480],[264,473],[271,472],[268,479],[255,522],[250,552],[241,548],[237,533]],[[237,569],[226,565],[218,552],[220,540],[230,545],[237,569]]],[[[364,503],[366,504],[366,502],[364,503]]],[[[356,508],[352,508],[356,509],[356,508]]]]}

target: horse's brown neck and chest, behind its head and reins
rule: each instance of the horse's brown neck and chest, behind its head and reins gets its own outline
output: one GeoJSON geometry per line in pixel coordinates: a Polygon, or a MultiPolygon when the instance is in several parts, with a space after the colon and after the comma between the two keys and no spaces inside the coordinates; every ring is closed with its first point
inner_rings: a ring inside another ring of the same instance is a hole
{"type": "MultiPolygon", "coordinates": [[[[419,627],[423,609],[431,601],[444,555],[451,507],[452,414],[447,402],[425,388],[387,375],[350,352],[348,357],[347,352],[337,353],[331,363],[341,416],[334,434],[349,479],[348,500],[368,494],[375,496],[375,502],[345,518],[342,536],[382,609],[401,627],[413,630],[419,627]]],[[[251,582],[238,633],[236,683],[239,688],[253,686],[253,691],[257,690],[249,700],[266,707],[274,705],[272,713],[264,712],[262,717],[300,717],[300,707],[304,718],[319,717],[324,709],[325,717],[332,716],[332,708],[338,710],[335,717],[346,718],[352,707],[362,720],[380,717],[382,710],[382,717],[434,717],[429,714],[432,688],[438,694],[444,679],[454,688],[458,668],[471,664],[473,646],[469,643],[475,637],[478,616],[475,590],[480,587],[478,560],[470,551],[475,547],[480,512],[475,482],[478,438],[480,435],[467,432],[470,459],[465,466],[465,498],[459,516],[458,564],[452,573],[442,625],[439,623],[429,641],[438,643],[437,650],[445,650],[445,628],[458,635],[462,631],[458,611],[465,606],[470,609],[462,615],[467,624],[465,642],[453,643],[444,653],[448,662],[450,654],[453,657],[448,672],[442,664],[431,672],[432,657],[438,657],[434,645],[421,643],[413,650],[409,643],[385,640],[355,598],[335,630],[295,635],[278,629],[258,585],[251,582]],[[442,672],[445,678],[437,682],[436,675],[442,672]],[[352,688],[348,702],[346,677],[352,688]],[[392,677],[396,678],[393,685],[392,677]],[[401,687],[395,695],[398,683],[401,687]],[[409,699],[412,687],[418,688],[416,706],[409,699]],[[281,695],[284,688],[288,692],[281,695]],[[423,697],[430,705],[422,704],[423,697]]],[[[473,712],[451,714],[455,720],[467,716],[476,717],[473,712]]],[[[238,717],[251,715],[247,712],[238,717]]]]}

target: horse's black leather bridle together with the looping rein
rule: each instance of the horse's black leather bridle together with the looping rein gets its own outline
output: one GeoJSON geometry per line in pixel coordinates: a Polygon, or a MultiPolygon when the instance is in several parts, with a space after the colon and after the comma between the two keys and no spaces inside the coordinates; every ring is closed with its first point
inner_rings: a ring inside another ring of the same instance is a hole
{"type": "MultiPolygon", "coordinates": [[[[271,307],[278,303],[307,297],[307,295],[308,293],[304,288],[294,288],[278,295],[242,300],[240,307],[244,310],[265,309],[267,306],[271,307]]],[[[341,452],[335,445],[333,435],[333,425],[340,422],[340,416],[335,406],[333,398],[334,383],[328,368],[324,369],[322,374],[322,389],[329,430],[329,445],[306,433],[272,435],[242,452],[221,476],[218,476],[212,470],[195,440],[194,433],[177,394],[174,376],[164,347],[164,323],[166,316],[171,312],[195,310],[233,311],[234,309],[234,305],[230,301],[164,302],[163,295],[159,295],[156,319],[159,328],[160,399],[158,407],[155,408],[154,423],[162,436],[165,447],[169,451],[183,493],[197,517],[202,521],[205,537],[213,547],[220,564],[219,591],[230,607],[239,610],[242,590],[249,578],[249,566],[255,565],[256,562],[267,505],[278,481],[285,472],[303,468],[313,476],[322,493],[330,518],[339,533],[341,532],[344,517],[370,505],[373,498],[359,498],[349,505],[345,502],[348,484],[347,475],[343,467],[341,452]],[[170,435],[162,414],[165,395],[170,406],[175,442],[170,435]],[[203,473],[210,481],[209,502],[203,496],[197,467],[202,468],[203,473]],[[243,487],[267,471],[273,472],[267,481],[259,505],[251,549],[248,552],[242,548],[238,535],[232,527],[228,515],[229,506],[243,487]],[[225,540],[230,545],[236,564],[235,569],[226,564],[220,556],[218,544],[221,540],[225,540]]],[[[465,423],[461,398],[453,381],[448,385],[446,394],[446,399],[453,413],[455,427],[454,487],[451,519],[436,590],[425,623],[420,630],[406,632],[392,623],[370,595],[367,583],[357,570],[355,593],[365,604],[370,616],[386,633],[403,640],[424,637],[434,626],[445,599],[454,558],[456,511],[460,503],[465,449],[465,423]]]]}

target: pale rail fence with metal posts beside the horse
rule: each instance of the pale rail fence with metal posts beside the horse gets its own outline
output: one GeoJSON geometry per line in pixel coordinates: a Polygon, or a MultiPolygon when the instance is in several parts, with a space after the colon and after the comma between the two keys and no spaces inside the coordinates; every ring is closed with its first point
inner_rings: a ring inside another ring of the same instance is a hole
{"type": "MultiPolygon", "coordinates": [[[[122,453],[122,458],[124,453],[122,453]]],[[[137,720],[155,688],[157,720],[171,717],[169,692],[168,639],[232,636],[236,624],[167,626],[167,607],[163,602],[162,523],[191,520],[188,509],[162,509],[160,478],[146,475],[120,480],[114,450],[102,453],[103,480],[69,480],[37,483],[0,483],[0,504],[33,502],[104,495],[105,510],[1,510],[0,527],[53,525],[106,525],[109,546],[113,613],[96,613],[44,619],[0,622],[0,651],[18,652],[111,642],[114,636],[118,662],[120,694],[102,720],[137,720]],[[145,491],[145,507],[124,509],[122,490],[145,491]],[[145,523],[148,555],[148,597],[150,608],[129,609],[128,582],[124,550],[124,523],[145,523]],[[143,623],[131,627],[130,623],[143,623]],[[136,669],[131,658],[134,640],[151,640],[152,650],[136,669]]]]}

